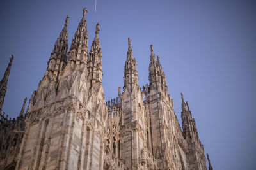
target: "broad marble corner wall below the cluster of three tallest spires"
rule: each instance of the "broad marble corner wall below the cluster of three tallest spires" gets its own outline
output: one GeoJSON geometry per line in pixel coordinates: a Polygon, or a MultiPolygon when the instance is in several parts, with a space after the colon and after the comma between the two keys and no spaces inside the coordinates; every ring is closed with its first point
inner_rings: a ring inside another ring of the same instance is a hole
{"type": "Polygon", "coordinates": [[[93,116],[96,114],[74,101],[68,103],[65,99],[31,113],[33,122],[24,138],[20,169],[102,169],[102,125],[93,116]]]}

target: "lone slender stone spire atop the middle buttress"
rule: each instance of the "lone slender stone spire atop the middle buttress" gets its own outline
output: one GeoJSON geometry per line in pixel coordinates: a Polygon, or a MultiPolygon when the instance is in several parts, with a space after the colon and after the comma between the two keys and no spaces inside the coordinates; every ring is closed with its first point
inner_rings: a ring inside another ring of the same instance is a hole
{"type": "Polygon", "coordinates": [[[137,63],[136,59],[133,58],[131,39],[128,38],[127,59],[124,66],[124,88],[127,87],[132,90],[134,85],[138,85],[138,79],[137,63]]]}

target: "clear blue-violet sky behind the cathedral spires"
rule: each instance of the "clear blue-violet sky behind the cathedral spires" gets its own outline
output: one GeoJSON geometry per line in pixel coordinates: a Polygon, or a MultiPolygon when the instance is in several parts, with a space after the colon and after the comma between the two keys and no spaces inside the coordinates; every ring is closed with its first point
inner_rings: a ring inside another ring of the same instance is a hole
{"type": "Polygon", "coordinates": [[[161,58],[180,120],[183,92],[214,169],[255,169],[256,1],[0,2],[0,78],[13,54],[3,111],[16,117],[44,76],[52,48],[68,25],[69,46],[86,15],[89,44],[100,22],[106,99],[123,86],[127,38],[139,84],[148,83],[150,44],[161,58]]]}

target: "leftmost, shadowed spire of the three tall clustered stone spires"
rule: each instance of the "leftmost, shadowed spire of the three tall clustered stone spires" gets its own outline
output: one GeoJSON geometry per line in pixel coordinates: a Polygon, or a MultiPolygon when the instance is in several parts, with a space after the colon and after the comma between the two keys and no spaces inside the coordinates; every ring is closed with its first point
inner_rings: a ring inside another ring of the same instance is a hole
{"type": "Polygon", "coordinates": [[[51,57],[48,62],[47,71],[53,73],[54,76],[60,76],[60,73],[67,65],[67,50],[68,50],[68,16],[66,17],[64,27],[60,32],[60,36],[57,38],[52,50],[51,57]]]}

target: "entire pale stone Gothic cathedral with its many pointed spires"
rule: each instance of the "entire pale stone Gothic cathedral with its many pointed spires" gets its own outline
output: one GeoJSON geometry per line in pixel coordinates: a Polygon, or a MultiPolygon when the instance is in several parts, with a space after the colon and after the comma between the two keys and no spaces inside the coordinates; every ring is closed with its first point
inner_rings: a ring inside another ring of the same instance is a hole
{"type": "Polygon", "coordinates": [[[128,38],[124,87],[105,101],[100,25],[88,50],[86,12],[84,8],[69,50],[66,18],[44,77],[26,111],[24,99],[17,118],[2,111],[11,57],[0,83],[0,169],[206,170],[188,101],[181,94],[181,128],[152,45],[149,83],[140,87],[128,38]]]}

